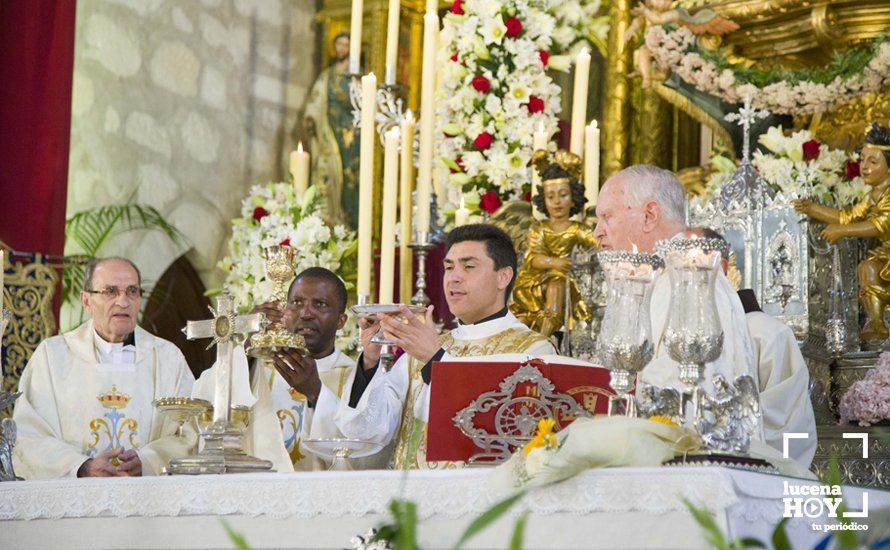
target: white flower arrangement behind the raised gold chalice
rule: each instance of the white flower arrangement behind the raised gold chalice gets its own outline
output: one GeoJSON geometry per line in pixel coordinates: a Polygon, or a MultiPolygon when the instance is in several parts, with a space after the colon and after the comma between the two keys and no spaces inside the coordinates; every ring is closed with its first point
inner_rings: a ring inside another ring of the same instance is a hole
{"type": "MultiPolygon", "coordinates": [[[[355,232],[342,225],[325,225],[318,212],[315,187],[297,202],[292,183],[255,185],[241,202],[241,216],[232,221],[228,254],[219,263],[226,272],[224,288],[242,311],[267,302],[275,283],[266,277],[264,249],[286,245],[295,249],[296,272],[324,267],[345,281],[355,280],[355,232]]],[[[347,322],[337,338],[346,353],[358,347],[356,324],[347,322]]]]}

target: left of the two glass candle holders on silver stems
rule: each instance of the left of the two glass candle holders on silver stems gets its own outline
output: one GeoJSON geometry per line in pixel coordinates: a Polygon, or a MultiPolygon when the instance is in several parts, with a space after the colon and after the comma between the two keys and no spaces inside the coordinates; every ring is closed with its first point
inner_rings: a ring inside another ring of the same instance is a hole
{"type": "MultiPolygon", "coordinates": [[[[611,371],[610,385],[623,401],[624,413],[636,416],[636,401],[630,392],[637,374],[650,360],[652,324],[649,302],[652,282],[663,262],[654,254],[607,250],[597,255],[606,278],[606,311],[597,341],[603,365],[611,371]]],[[[609,400],[613,414],[614,398],[609,400]]]]}

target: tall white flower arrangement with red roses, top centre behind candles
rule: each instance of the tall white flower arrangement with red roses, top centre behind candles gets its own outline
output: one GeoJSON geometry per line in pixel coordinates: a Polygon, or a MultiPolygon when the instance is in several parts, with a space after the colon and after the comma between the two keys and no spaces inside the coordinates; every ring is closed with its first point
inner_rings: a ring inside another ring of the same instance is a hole
{"type": "Polygon", "coordinates": [[[455,0],[439,52],[437,144],[450,170],[442,211],[459,204],[493,213],[502,200],[529,200],[533,135],[557,131],[560,89],[546,70],[579,41],[605,40],[599,0],[455,0]]]}

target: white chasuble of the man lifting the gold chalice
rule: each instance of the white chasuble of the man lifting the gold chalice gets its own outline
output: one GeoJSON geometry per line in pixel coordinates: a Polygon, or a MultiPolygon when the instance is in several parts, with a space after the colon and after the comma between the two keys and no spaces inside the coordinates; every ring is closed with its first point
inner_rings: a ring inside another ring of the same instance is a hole
{"type": "MultiPolygon", "coordinates": [[[[273,366],[261,362],[254,372],[252,387],[257,388],[258,384],[268,387],[282,441],[297,471],[324,470],[330,466],[330,460],[301,449],[300,441],[343,437],[334,425],[333,416],[344,388],[352,387],[355,376],[355,360],[336,348],[327,357],[316,359],[315,364],[321,379],[321,392],[315,407],[309,407],[306,396],[291,388],[273,366]]],[[[348,394],[346,398],[349,398],[348,394]]]]}

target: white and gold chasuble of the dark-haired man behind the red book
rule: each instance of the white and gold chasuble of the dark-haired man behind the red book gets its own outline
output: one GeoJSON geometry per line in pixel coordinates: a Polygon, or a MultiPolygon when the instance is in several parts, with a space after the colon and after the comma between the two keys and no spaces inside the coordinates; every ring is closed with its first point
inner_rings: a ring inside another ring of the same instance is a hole
{"type": "MultiPolygon", "coordinates": [[[[530,330],[512,313],[472,325],[459,325],[440,337],[441,361],[519,353],[527,358],[556,353],[552,342],[530,330]]],[[[430,386],[420,361],[405,354],[389,372],[378,369],[355,408],[340,402],[336,423],[346,437],[389,445],[395,441],[396,468],[426,468],[426,422],[430,386]]]]}

